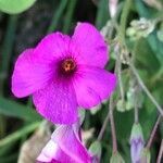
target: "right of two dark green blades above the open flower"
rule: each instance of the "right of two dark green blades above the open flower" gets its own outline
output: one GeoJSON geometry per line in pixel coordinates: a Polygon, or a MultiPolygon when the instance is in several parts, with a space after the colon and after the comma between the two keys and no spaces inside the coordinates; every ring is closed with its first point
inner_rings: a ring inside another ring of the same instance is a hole
{"type": "Polygon", "coordinates": [[[63,32],[64,33],[67,33],[70,29],[70,25],[72,22],[72,17],[73,17],[76,2],[77,2],[77,0],[70,0],[68,1],[67,12],[65,13],[65,20],[64,20],[64,25],[63,25],[63,32]]]}

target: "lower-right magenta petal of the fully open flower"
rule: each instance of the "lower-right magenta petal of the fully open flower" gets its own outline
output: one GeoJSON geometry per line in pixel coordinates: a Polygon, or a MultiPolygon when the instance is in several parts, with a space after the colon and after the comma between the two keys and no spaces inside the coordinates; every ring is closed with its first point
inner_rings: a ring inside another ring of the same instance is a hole
{"type": "Polygon", "coordinates": [[[115,75],[98,67],[80,66],[74,78],[78,105],[86,109],[109,98],[115,86],[115,75]]]}

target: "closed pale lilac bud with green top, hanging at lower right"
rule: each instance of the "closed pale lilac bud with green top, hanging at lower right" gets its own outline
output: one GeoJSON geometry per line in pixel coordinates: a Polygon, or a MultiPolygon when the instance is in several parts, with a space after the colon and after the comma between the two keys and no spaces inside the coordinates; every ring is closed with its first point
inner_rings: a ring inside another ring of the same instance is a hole
{"type": "Polygon", "coordinates": [[[140,162],[141,152],[143,149],[143,135],[140,124],[134,124],[131,128],[131,135],[130,135],[130,155],[131,155],[131,162],[138,163],[140,162]]]}

